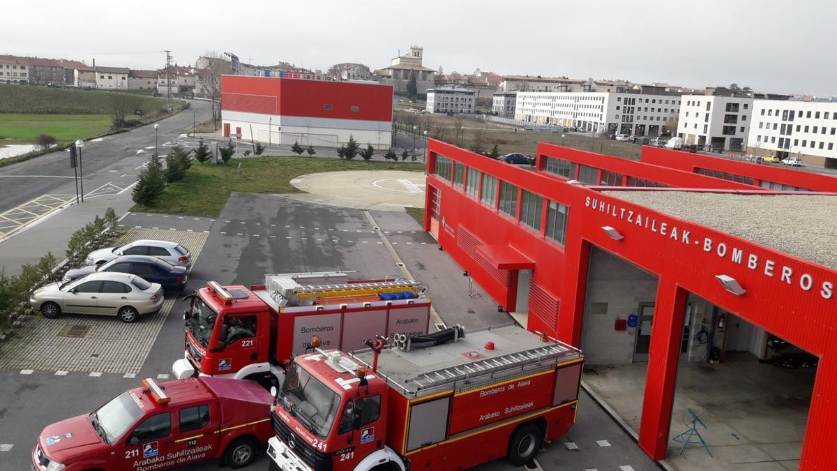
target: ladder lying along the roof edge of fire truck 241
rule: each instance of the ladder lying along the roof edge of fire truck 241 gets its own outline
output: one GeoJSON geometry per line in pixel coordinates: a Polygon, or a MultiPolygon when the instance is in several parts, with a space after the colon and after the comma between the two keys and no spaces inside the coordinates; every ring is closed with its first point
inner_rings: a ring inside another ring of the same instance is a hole
{"type": "Polygon", "coordinates": [[[578,355],[573,349],[567,349],[562,345],[550,344],[535,349],[528,349],[508,355],[496,356],[486,360],[476,360],[465,365],[451,366],[440,370],[429,371],[416,376],[408,383],[414,383],[418,387],[416,392],[423,391],[436,386],[455,383],[474,376],[490,375],[500,370],[509,370],[512,367],[523,367],[533,363],[553,361],[570,355],[578,355]]]}

